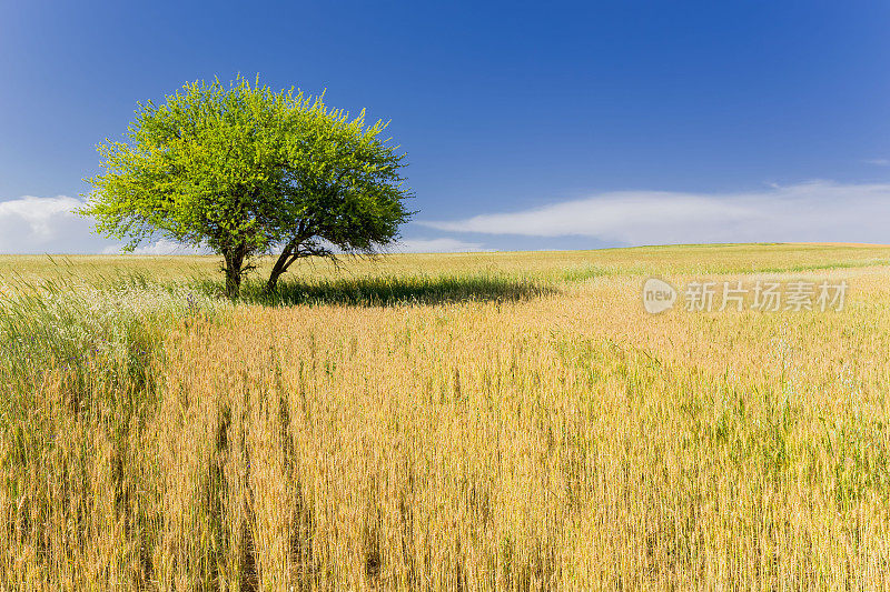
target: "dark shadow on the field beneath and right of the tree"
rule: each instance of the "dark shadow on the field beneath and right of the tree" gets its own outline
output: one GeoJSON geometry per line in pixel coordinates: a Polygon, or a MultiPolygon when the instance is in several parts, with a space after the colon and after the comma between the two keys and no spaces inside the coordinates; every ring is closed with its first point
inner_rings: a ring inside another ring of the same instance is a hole
{"type": "Polygon", "coordinates": [[[530,300],[553,289],[527,279],[497,275],[343,278],[335,280],[286,280],[271,294],[264,283],[249,280],[241,287],[243,302],[288,307],[295,304],[344,304],[392,307],[452,302],[511,302],[530,300]]]}

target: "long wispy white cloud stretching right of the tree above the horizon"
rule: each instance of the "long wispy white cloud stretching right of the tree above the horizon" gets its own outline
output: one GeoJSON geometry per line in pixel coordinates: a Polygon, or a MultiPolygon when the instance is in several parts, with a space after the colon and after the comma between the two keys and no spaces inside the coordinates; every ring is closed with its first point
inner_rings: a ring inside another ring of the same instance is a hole
{"type": "Polygon", "coordinates": [[[530,210],[417,223],[452,232],[670,244],[890,243],[888,222],[890,184],[812,181],[728,194],[616,191],[530,210]]]}

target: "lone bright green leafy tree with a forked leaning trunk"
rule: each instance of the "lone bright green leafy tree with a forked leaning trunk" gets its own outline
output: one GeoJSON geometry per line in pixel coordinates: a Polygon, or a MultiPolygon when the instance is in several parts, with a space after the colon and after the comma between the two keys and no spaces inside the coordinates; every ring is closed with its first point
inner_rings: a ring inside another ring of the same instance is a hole
{"type": "Polygon", "coordinates": [[[349,119],[324,97],[273,91],[238,77],[228,88],[186,84],[164,104],[137,103],[128,142],[106,140],[103,172],[82,213],[129,240],[156,235],[222,255],[237,297],[251,258],[280,254],[265,291],[305,257],[374,254],[411,215],[405,154],[380,139],[386,123],[349,119]]]}

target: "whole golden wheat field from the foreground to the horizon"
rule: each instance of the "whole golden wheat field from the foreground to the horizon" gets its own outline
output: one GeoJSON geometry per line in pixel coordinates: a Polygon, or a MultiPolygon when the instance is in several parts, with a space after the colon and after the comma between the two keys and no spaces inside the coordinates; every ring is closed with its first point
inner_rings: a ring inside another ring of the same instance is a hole
{"type": "Polygon", "coordinates": [[[218,265],[0,258],[0,586],[890,588],[890,248],[218,265]]]}

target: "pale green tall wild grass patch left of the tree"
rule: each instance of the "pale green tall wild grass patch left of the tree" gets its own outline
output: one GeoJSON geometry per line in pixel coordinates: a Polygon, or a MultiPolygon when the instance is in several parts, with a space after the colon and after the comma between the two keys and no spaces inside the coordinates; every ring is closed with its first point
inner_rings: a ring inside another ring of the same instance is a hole
{"type": "Polygon", "coordinates": [[[57,369],[81,379],[122,371],[122,385],[147,365],[174,319],[209,315],[219,307],[200,291],[159,285],[141,274],[105,285],[19,282],[0,295],[0,372],[19,385],[19,394],[57,369]]]}

